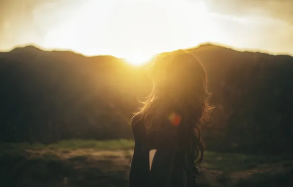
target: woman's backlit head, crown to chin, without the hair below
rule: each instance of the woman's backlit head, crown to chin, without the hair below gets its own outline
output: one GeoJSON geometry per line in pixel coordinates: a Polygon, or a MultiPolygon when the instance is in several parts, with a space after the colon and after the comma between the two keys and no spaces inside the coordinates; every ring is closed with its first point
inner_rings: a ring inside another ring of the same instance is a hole
{"type": "Polygon", "coordinates": [[[205,87],[206,74],[201,62],[191,53],[178,50],[155,58],[146,68],[155,88],[205,87]],[[174,83],[179,83],[175,85],[174,83]],[[203,85],[204,84],[204,85],[203,85]]]}

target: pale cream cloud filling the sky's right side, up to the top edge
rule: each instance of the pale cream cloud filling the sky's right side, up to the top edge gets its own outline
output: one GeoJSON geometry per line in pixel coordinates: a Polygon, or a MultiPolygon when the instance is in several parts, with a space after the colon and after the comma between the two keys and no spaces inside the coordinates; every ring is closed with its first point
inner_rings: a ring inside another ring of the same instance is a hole
{"type": "Polygon", "coordinates": [[[293,54],[292,0],[203,0],[216,41],[237,48],[293,54]]]}

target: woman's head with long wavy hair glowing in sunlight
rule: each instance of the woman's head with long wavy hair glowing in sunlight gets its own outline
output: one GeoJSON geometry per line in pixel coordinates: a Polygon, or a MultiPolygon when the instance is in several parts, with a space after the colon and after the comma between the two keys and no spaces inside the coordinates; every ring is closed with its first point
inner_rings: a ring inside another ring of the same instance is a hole
{"type": "Polygon", "coordinates": [[[155,119],[180,111],[182,122],[191,124],[194,130],[195,164],[198,165],[204,153],[201,124],[208,118],[209,111],[203,65],[193,54],[178,50],[154,58],[146,74],[152,80],[153,89],[137,114],[141,114],[147,130],[156,130],[159,127],[153,123],[155,119]]]}

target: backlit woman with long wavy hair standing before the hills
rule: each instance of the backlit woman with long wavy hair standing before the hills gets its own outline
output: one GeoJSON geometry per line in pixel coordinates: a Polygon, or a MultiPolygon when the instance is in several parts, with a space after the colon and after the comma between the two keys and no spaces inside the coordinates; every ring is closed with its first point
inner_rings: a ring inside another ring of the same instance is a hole
{"type": "Polygon", "coordinates": [[[205,69],[194,55],[179,50],[156,58],[146,74],[153,91],[131,121],[135,147],[129,187],[196,187],[196,165],[204,151],[205,69]]]}

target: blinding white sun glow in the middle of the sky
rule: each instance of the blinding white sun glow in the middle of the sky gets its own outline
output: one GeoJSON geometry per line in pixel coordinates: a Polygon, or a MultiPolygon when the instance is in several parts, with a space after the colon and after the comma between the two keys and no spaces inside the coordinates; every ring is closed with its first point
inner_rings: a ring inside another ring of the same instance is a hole
{"type": "MultiPolygon", "coordinates": [[[[62,24],[44,22],[50,26],[45,25],[43,47],[113,55],[137,66],[154,54],[193,47],[215,36],[209,34],[212,22],[202,1],[85,0],[72,9],[63,10],[62,24]]],[[[38,14],[42,12],[44,8],[38,14]]],[[[38,16],[39,23],[51,18],[44,16],[38,16]]]]}

